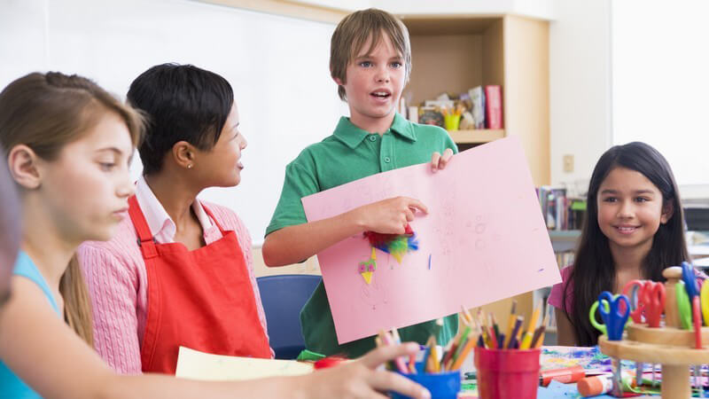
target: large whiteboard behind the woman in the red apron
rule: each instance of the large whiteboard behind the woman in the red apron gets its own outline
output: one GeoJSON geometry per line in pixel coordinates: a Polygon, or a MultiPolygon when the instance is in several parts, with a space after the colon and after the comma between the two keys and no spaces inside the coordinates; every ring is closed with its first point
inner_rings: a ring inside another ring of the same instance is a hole
{"type": "Polygon", "coordinates": [[[347,114],[329,71],[334,28],[183,0],[0,0],[0,86],[55,70],[90,77],[125,98],[130,82],[156,64],[221,74],[234,89],[248,141],[245,169],[237,187],[207,189],[199,198],[234,209],[259,246],[285,165],[347,114]]]}

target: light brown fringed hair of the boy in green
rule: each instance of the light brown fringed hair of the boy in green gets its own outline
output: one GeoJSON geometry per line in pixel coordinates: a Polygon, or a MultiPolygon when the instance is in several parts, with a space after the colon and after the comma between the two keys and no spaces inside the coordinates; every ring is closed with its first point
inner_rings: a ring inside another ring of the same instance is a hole
{"type": "MultiPolygon", "coordinates": [[[[370,8],[353,12],[344,20],[339,21],[338,27],[332,34],[330,42],[330,74],[341,82],[347,82],[347,66],[362,51],[364,43],[371,37],[370,48],[367,54],[374,51],[382,40],[382,32],[389,36],[394,48],[401,52],[406,67],[406,80],[409,82],[411,74],[411,43],[409,30],[401,20],[392,14],[370,8]]],[[[347,100],[345,88],[338,87],[339,98],[347,100]]]]}

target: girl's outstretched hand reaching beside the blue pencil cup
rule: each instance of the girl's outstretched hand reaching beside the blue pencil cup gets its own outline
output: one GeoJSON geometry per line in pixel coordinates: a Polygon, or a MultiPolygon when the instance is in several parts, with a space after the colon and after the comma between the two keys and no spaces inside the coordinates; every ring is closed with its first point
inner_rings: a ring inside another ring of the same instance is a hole
{"type": "Polygon", "coordinates": [[[418,345],[409,342],[372,350],[358,360],[313,372],[303,389],[312,398],[386,398],[387,391],[419,399],[431,394],[425,387],[394,372],[376,370],[381,364],[400,356],[415,354],[418,345]]]}

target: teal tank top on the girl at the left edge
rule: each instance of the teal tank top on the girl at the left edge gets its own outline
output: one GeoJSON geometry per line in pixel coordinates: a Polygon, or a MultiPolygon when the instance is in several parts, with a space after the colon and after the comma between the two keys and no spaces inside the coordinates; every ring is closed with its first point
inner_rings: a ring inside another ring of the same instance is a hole
{"type": "MultiPolygon", "coordinates": [[[[57,312],[57,316],[61,317],[57,302],[54,301],[54,297],[51,295],[50,287],[47,286],[47,282],[44,281],[42,274],[35,266],[35,262],[27,256],[23,251],[20,251],[15,262],[15,269],[13,270],[15,276],[22,276],[24,278],[29,278],[37,286],[42,288],[43,293],[47,296],[47,299],[51,303],[51,307],[57,312]]],[[[12,397],[18,399],[35,399],[41,398],[32,388],[28,387],[22,379],[19,379],[12,370],[10,370],[0,359],[0,397],[12,397]]]]}

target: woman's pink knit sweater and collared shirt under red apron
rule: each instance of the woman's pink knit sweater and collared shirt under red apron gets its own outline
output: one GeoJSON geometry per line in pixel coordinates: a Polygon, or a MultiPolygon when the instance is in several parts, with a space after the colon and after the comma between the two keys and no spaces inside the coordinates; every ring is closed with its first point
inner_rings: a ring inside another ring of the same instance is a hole
{"type": "MultiPolygon", "coordinates": [[[[143,177],[136,184],[136,200],[156,241],[160,244],[175,242],[175,223],[143,177]]],[[[208,202],[205,205],[224,230],[233,230],[237,234],[251,278],[259,320],[268,337],[266,315],[253,274],[251,236],[241,219],[229,208],[208,202]]],[[[194,201],[192,209],[202,226],[206,244],[221,239],[222,233],[206,215],[200,200],[194,201]]],[[[94,346],[113,370],[124,374],[142,372],[140,348],[148,309],[148,277],[136,240],[136,229],[127,216],[113,239],[84,242],[77,252],[91,295],[94,346]]]]}

